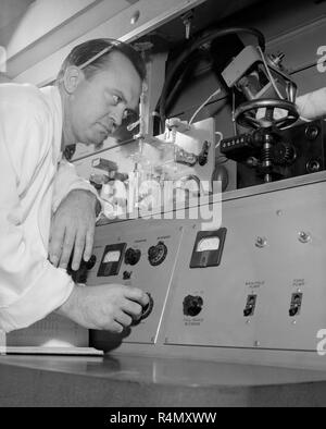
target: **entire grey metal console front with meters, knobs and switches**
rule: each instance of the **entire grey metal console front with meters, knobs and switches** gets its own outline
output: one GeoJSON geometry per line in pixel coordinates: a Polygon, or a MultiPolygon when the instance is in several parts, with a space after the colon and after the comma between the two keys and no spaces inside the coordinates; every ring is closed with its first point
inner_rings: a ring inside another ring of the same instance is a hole
{"type": "MultiPolygon", "coordinates": [[[[318,358],[323,366],[316,346],[326,327],[325,180],[317,173],[311,183],[297,177],[225,195],[215,231],[193,220],[98,226],[98,262],[88,284],[126,282],[129,272],[128,282],[154,302],[152,314],[121,338],[117,350],[210,359],[224,351],[224,358],[237,361],[254,361],[264,351],[266,361],[288,365],[299,353],[305,366],[318,358]],[[150,263],[149,249],[160,242],[164,260],[150,263]],[[120,272],[98,275],[103,252],[116,243],[125,243],[120,272]]],[[[91,341],[116,347],[108,333],[93,331],[91,341]]]]}

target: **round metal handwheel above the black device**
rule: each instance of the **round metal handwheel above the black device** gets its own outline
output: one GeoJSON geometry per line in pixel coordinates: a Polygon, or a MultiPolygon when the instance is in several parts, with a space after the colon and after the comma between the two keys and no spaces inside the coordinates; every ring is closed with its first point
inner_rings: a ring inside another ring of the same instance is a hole
{"type": "Polygon", "coordinates": [[[275,100],[273,98],[265,98],[260,100],[243,102],[236,110],[236,122],[248,127],[253,128],[268,128],[276,127],[283,130],[294,122],[299,118],[296,105],[287,100],[275,100]],[[258,118],[259,109],[266,109],[264,117],[258,118]],[[285,110],[285,114],[281,118],[276,118],[276,109],[285,110]]]}

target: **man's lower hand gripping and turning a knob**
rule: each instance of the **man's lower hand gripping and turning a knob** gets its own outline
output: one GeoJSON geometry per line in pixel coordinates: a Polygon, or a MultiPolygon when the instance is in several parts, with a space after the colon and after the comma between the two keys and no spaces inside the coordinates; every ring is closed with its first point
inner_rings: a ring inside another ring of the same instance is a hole
{"type": "Polygon", "coordinates": [[[140,289],[121,284],[75,286],[68,299],[57,310],[87,329],[120,333],[139,319],[149,296],[140,289]]]}

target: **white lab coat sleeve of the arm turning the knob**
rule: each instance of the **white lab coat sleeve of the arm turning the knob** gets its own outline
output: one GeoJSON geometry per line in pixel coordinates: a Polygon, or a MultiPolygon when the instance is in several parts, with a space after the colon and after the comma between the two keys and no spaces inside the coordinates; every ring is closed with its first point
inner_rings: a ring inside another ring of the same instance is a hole
{"type": "Polygon", "coordinates": [[[24,224],[22,193],[49,151],[52,156],[45,144],[49,123],[30,106],[0,105],[0,329],[5,332],[42,319],[74,287],[67,273],[47,260],[46,252],[36,252],[24,224]]]}

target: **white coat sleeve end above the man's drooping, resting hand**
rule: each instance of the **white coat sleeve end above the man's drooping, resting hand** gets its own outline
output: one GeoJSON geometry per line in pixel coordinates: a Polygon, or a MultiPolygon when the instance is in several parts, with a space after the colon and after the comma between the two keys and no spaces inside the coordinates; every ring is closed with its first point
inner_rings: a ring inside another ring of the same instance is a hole
{"type": "Polygon", "coordinates": [[[83,179],[78,175],[73,163],[62,158],[59,163],[58,173],[55,176],[52,212],[54,213],[57,211],[60,204],[71,191],[76,189],[91,192],[101,204],[101,199],[99,198],[96,188],[86,179],[83,179]]]}

